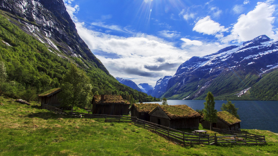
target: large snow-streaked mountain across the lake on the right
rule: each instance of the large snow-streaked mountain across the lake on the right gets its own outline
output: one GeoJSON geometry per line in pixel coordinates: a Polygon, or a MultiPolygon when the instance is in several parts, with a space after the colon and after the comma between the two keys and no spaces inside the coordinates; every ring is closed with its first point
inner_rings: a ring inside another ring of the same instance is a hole
{"type": "Polygon", "coordinates": [[[226,47],[203,57],[192,57],[179,66],[169,80],[164,96],[170,99],[204,99],[208,91],[215,96],[231,96],[250,87],[252,92],[252,86],[262,75],[277,69],[277,46],[277,40],[262,35],[242,45],[226,47]]]}

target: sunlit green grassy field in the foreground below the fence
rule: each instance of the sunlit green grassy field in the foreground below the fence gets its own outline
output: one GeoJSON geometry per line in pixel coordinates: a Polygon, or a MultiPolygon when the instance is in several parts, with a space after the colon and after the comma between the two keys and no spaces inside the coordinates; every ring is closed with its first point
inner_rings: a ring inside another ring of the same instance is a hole
{"type": "Polygon", "coordinates": [[[244,130],[265,135],[263,146],[184,147],[131,123],[72,118],[3,97],[0,103],[0,155],[278,155],[270,131],[244,130]]]}

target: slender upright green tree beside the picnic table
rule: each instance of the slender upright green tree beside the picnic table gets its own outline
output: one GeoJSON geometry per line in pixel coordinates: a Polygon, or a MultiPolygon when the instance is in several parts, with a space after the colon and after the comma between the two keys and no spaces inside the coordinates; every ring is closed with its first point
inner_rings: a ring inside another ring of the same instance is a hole
{"type": "Polygon", "coordinates": [[[211,130],[211,123],[216,122],[217,119],[217,110],[214,109],[215,102],[213,94],[209,91],[206,94],[206,102],[204,102],[204,120],[208,121],[210,124],[210,130],[211,130]]]}

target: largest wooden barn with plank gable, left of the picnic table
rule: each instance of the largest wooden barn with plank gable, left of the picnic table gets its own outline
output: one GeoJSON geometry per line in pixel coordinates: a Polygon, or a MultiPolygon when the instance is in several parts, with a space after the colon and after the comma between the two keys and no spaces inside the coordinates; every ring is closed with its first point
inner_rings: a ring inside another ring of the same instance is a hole
{"type": "Polygon", "coordinates": [[[150,113],[150,122],[173,129],[199,129],[201,115],[187,105],[160,105],[150,113]]]}

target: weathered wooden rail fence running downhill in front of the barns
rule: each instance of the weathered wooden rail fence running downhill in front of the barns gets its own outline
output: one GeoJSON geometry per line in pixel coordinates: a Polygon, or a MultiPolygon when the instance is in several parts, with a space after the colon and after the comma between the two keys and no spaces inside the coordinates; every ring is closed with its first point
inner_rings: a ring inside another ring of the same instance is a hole
{"type": "Polygon", "coordinates": [[[65,112],[62,109],[58,109],[50,105],[42,105],[42,109],[47,109],[55,113],[66,114],[70,116],[80,117],[80,118],[90,118],[98,121],[105,122],[134,122],[134,125],[142,127],[144,129],[149,129],[154,133],[158,133],[169,140],[178,142],[180,144],[265,144],[264,135],[256,135],[250,133],[243,133],[237,131],[229,131],[226,129],[213,129],[220,133],[228,134],[226,136],[209,136],[209,134],[196,134],[196,133],[186,133],[184,131],[178,131],[169,127],[158,125],[152,122],[138,119],[137,117],[130,116],[116,116],[116,115],[106,115],[106,114],[88,114],[79,112],[65,112]]]}

